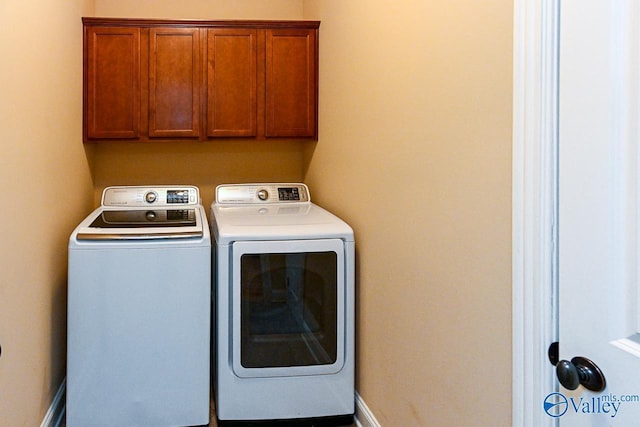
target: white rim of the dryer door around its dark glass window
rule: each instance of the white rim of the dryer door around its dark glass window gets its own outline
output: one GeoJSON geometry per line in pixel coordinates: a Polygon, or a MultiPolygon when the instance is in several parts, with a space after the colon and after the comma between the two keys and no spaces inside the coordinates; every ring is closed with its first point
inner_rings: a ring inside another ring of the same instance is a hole
{"type": "Polygon", "coordinates": [[[344,366],[345,354],[345,247],[340,239],[236,242],[232,245],[232,366],[241,378],[291,377],[305,375],[329,375],[344,366]],[[285,254],[309,252],[334,252],[337,261],[337,352],[331,364],[288,367],[247,368],[241,362],[241,259],[245,254],[285,254]]]}

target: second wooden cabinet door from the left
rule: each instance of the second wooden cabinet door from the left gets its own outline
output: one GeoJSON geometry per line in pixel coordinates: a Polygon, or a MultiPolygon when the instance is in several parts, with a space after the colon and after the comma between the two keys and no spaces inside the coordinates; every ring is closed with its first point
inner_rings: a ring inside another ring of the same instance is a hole
{"type": "Polygon", "coordinates": [[[149,32],[149,136],[200,135],[198,28],[149,32]]]}

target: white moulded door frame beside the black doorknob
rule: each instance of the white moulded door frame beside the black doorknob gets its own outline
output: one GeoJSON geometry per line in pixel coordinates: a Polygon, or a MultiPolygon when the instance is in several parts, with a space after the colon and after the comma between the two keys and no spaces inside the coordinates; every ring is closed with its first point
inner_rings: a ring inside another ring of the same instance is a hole
{"type": "Polygon", "coordinates": [[[514,0],[512,424],[554,426],[560,0],[514,0]]]}

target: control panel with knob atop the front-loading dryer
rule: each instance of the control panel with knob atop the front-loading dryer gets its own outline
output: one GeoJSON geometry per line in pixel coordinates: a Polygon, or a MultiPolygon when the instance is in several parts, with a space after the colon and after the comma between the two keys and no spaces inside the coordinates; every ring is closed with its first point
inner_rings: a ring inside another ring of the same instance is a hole
{"type": "Polygon", "coordinates": [[[311,196],[305,184],[223,184],[216,188],[216,203],[244,205],[265,203],[309,203],[311,196]]]}

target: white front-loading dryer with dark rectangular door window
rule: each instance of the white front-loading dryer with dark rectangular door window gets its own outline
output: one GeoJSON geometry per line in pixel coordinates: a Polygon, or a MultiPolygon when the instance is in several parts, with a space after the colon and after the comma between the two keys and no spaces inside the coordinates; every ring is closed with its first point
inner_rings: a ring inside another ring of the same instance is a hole
{"type": "Polygon", "coordinates": [[[219,422],[351,424],[351,227],[304,184],[237,184],[216,188],[211,228],[219,422]]]}

